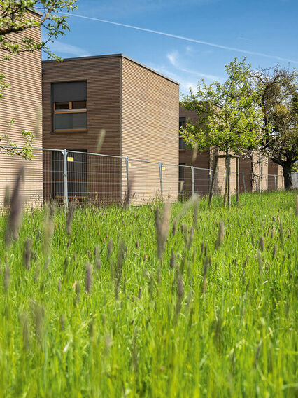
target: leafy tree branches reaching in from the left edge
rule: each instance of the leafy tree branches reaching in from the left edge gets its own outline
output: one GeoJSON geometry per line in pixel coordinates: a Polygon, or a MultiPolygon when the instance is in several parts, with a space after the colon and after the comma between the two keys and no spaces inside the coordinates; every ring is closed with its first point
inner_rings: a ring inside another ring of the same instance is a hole
{"type": "MultiPolygon", "coordinates": [[[[69,30],[68,17],[59,13],[73,11],[77,8],[76,2],[77,0],[0,0],[0,62],[7,62],[10,55],[33,53],[37,50],[43,50],[48,57],[61,60],[50,51],[48,43],[69,30]],[[32,16],[32,10],[42,13],[40,20],[32,16]],[[30,32],[38,27],[43,28],[45,40],[32,39],[30,32]],[[24,32],[22,36],[20,36],[21,32],[24,32]]],[[[0,99],[3,98],[3,90],[9,87],[9,82],[5,81],[5,75],[0,72],[0,99]]],[[[13,122],[13,120],[10,121],[8,129],[13,122]]],[[[18,150],[16,144],[9,140],[8,133],[0,135],[0,142],[7,139],[10,148],[0,146],[0,149],[23,158],[31,158],[34,134],[29,131],[23,131],[21,134],[25,137],[22,150],[18,150]]]]}

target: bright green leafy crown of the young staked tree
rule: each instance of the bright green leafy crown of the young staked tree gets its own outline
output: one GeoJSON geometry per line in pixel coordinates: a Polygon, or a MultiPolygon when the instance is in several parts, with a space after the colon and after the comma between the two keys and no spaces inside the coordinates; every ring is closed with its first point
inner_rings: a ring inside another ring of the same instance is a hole
{"type": "Polygon", "coordinates": [[[245,58],[226,65],[227,81],[211,85],[201,81],[197,92],[184,96],[185,109],[197,113],[197,122],[182,130],[185,142],[199,151],[214,147],[225,153],[254,149],[260,139],[262,112],[256,104],[259,94],[251,90],[250,66],[245,58]]]}

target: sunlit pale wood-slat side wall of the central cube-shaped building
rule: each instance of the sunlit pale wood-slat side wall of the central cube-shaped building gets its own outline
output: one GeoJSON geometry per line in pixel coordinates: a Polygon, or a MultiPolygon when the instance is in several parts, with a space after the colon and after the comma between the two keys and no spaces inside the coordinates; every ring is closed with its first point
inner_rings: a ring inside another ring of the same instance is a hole
{"type": "MultiPolygon", "coordinates": [[[[178,165],[179,86],[122,58],[122,156],[178,165]]],[[[134,203],[160,195],[159,166],[129,160],[134,203]]],[[[164,198],[178,199],[178,167],[164,165],[164,198]]],[[[122,195],[127,189],[122,170],[122,195]]]]}

